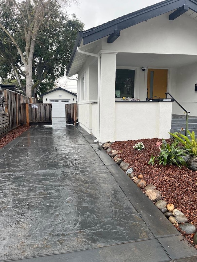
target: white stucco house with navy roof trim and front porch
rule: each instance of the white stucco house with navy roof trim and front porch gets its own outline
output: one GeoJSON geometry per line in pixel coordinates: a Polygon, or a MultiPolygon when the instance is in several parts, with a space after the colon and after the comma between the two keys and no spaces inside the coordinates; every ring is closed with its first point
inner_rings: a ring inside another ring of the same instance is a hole
{"type": "Polygon", "coordinates": [[[169,138],[171,115],[184,114],[171,96],[197,116],[197,1],[163,1],[79,32],[74,74],[79,125],[99,142],[169,138]]]}

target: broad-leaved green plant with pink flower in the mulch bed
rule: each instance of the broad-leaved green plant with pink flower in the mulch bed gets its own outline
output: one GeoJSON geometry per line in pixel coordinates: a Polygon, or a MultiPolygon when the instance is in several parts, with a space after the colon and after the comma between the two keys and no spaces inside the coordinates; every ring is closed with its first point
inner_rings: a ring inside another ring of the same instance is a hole
{"type": "Polygon", "coordinates": [[[159,165],[166,166],[175,164],[179,168],[181,166],[187,166],[185,160],[182,158],[183,155],[187,155],[186,151],[180,147],[176,147],[175,143],[171,143],[169,145],[165,139],[162,140],[162,143],[157,142],[155,147],[158,147],[160,150],[160,154],[158,156],[151,155],[151,159],[149,160],[148,164],[155,164],[155,160],[158,162],[156,163],[159,165]]]}

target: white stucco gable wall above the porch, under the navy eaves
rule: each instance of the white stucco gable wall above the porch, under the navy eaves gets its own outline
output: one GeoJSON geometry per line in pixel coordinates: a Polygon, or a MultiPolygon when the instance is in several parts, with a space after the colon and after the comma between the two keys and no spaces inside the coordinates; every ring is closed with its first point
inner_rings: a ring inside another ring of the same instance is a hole
{"type": "Polygon", "coordinates": [[[120,37],[112,44],[107,43],[107,37],[103,38],[102,49],[126,53],[197,55],[196,21],[186,14],[171,21],[170,13],[120,31],[120,37]]]}

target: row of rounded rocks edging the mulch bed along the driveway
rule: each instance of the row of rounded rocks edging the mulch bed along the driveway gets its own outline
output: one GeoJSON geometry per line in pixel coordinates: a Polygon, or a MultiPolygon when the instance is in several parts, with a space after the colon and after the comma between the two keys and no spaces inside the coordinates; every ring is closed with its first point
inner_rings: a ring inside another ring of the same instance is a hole
{"type": "Polygon", "coordinates": [[[178,226],[179,229],[184,234],[194,234],[193,243],[197,244],[197,229],[196,227],[188,222],[187,217],[178,209],[175,209],[175,206],[172,203],[167,203],[162,200],[162,195],[159,190],[156,190],[156,187],[153,184],[147,185],[146,181],[143,180],[143,175],[140,174],[138,177],[134,174],[134,169],[129,168],[129,163],[125,163],[118,156],[118,151],[110,148],[112,143],[106,142],[102,144],[102,148],[111,156],[111,158],[120,166],[120,168],[126,172],[126,174],[131,178],[131,180],[139,187],[143,188],[146,196],[158,207],[158,209],[164,214],[165,217],[175,226],[178,226]]]}

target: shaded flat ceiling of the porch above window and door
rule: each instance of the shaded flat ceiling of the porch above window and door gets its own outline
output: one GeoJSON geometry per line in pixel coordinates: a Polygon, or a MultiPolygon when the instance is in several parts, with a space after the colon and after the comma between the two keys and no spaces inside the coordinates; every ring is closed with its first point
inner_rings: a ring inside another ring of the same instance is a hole
{"type": "Polygon", "coordinates": [[[118,53],[116,66],[178,68],[197,62],[197,55],[118,53]]]}

